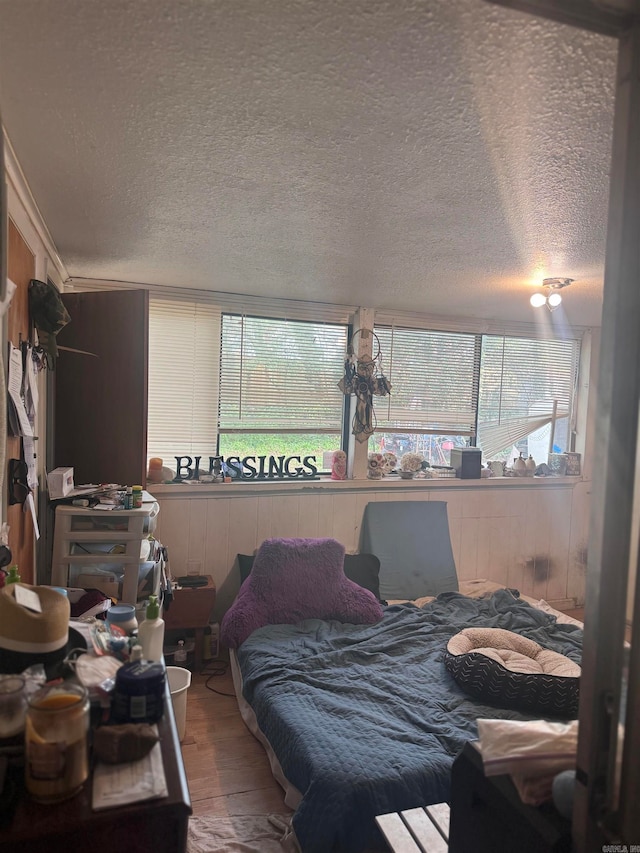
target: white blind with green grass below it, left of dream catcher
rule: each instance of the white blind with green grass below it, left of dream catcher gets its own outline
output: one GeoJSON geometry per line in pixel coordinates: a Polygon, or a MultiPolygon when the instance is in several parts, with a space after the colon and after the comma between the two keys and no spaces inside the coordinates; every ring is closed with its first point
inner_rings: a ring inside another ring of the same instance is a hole
{"type": "Polygon", "coordinates": [[[340,433],[346,325],[222,316],[221,433],[340,433]]]}

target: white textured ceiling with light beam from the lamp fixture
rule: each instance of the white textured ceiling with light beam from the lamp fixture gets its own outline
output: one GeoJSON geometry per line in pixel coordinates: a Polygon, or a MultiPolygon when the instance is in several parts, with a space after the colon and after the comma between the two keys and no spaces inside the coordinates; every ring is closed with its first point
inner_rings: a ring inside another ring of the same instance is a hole
{"type": "Polygon", "coordinates": [[[570,276],[597,325],[616,50],[482,0],[0,0],[0,108],[72,278],[531,320],[570,276]]]}

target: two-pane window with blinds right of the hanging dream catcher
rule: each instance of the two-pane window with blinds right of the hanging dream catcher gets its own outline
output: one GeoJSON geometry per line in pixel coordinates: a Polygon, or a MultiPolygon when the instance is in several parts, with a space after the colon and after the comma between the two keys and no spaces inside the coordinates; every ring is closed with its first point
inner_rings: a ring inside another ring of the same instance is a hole
{"type": "Polygon", "coordinates": [[[485,460],[510,461],[522,452],[540,462],[550,449],[571,449],[578,341],[384,326],[375,332],[392,391],[374,401],[370,450],[398,457],[416,451],[432,465],[448,465],[450,450],[469,444],[481,447],[485,460]]]}

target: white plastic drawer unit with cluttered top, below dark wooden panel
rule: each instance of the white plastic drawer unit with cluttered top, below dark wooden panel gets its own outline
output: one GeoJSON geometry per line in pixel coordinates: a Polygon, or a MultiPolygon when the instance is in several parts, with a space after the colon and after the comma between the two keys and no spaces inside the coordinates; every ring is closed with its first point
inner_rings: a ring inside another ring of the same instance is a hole
{"type": "MultiPolygon", "coordinates": [[[[145,497],[151,496],[147,493],[145,497]]],[[[160,572],[153,550],[149,556],[144,552],[158,511],[154,500],[143,503],[140,509],[127,510],[58,505],[51,583],[64,587],[93,585],[123,602],[136,604],[141,574],[148,570],[154,572],[152,592],[157,593],[160,572]]]]}

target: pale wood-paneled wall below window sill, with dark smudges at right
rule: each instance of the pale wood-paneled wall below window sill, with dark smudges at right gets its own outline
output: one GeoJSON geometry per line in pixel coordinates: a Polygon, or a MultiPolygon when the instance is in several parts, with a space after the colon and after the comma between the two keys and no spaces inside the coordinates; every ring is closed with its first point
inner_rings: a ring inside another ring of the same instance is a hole
{"type": "MultiPolygon", "coordinates": [[[[206,495],[158,495],[156,536],[172,573],[210,574],[218,588],[216,617],[240,586],[236,554],[251,554],[269,537],[329,536],[347,551],[359,547],[369,501],[447,502],[460,580],[487,578],[556,604],[584,602],[590,483],[563,480],[531,486],[304,490],[234,495],[220,486],[206,495]]],[[[429,543],[425,541],[425,553],[429,543]]]]}

